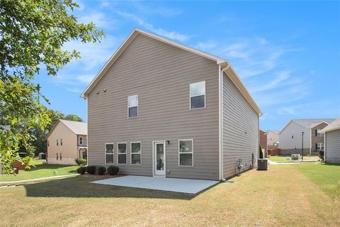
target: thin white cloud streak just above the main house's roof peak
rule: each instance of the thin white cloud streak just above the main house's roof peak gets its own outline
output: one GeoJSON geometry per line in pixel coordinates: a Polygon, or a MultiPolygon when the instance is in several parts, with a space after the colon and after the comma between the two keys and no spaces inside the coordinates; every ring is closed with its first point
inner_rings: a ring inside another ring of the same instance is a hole
{"type": "Polygon", "coordinates": [[[135,14],[126,13],[126,12],[123,12],[123,11],[116,11],[116,13],[118,13],[118,15],[120,15],[120,16],[130,18],[132,21],[135,21],[136,23],[138,23],[138,25],[146,28],[149,31],[152,31],[153,33],[157,33],[159,35],[162,35],[166,38],[170,38],[172,40],[179,40],[181,42],[189,39],[188,35],[183,35],[181,33],[177,33],[176,31],[166,31],[163,28],[155,28],[151,23],[147,23],[147,21],[136,16],[135,14]]]}

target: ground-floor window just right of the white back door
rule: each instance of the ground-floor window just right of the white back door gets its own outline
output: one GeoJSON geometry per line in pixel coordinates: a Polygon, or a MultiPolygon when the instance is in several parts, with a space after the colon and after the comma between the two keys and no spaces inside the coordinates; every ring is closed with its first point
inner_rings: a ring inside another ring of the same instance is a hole
{"type": "Polygon", "coordinates": [[[193,167],[193,140],[179,140],[179,166],[193,167]]]}

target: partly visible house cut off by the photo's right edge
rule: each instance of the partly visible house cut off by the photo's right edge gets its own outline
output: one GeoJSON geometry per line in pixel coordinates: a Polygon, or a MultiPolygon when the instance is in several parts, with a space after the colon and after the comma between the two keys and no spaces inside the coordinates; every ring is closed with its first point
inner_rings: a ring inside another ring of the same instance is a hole
{"type": "Polygon", "coordinates": [[[332,121],[322,129],[324,133],[325,162],[340,163],[340,118],[332,121]]]}

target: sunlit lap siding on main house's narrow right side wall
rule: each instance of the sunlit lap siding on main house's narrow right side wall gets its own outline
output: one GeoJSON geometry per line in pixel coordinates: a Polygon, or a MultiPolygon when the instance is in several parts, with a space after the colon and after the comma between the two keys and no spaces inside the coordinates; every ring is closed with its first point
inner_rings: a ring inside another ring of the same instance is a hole
{"type": "Polygon", "coordinates": [[[259,115],[244,99],[232,81],[223,74],[223,177],[236,174],[237,161],[242,159],[244,170],[254,165],[259,153],[259,115]]]}

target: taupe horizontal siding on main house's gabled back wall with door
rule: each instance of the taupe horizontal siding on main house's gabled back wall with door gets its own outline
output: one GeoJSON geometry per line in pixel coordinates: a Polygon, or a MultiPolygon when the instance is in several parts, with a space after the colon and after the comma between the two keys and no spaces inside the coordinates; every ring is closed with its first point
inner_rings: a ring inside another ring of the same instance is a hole
{"type": "Polygon", "coordinates": [[[166,177],[218,179],[216,62],[137,35],[88,96],[89,165],[105,164],[105,143],[127,143],[120,173],[152,176],[152,141],[166,145],[166,177]],[[189,85],[205,81],[206,108],[190,110],[189,85]],[[106,89],[106,92],[103,90],[106,89]],[[99,94],[96,94],[99,92],[99,94]],[[138,117],[128,96],[138,94],[138,117]],[[193,139],[193,167],[179,167],[178,140],[193,139]],[[142,165],[130,165],[130,142],[142,143],[142,165]]]}

